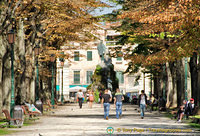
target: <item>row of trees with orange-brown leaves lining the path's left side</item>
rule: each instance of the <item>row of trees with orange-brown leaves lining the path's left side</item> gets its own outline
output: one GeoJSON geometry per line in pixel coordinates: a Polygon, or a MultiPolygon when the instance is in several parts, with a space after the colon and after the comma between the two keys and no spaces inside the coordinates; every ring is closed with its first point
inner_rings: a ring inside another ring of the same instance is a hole
{"type": "MultiPolygon", "coordinates": [[[[10,64],[9,46],[7,44],[7,32],[11,29],[11,22],[15,19],[17,32],[15,41],[15,96],[21,96],[24,100],[34,100],[35,82],[35,56],[33,49],[36,44],[43,49],[39,56],[41,86],[48,82],[49,78],[49,55],[59,54],[60,46],[69,46],[70,41],[89,41],[94,37],[90,33],[93,23],[98,19],[90,13],[96,7],[105,4],[96,0],[3,0],[0,3],[0,41],[1,41],[1,64],[0,64],[0,107],[10,102],[10,64]],[[4,72],[2,72],[4,71],[4,72]],[[16,76],[17,75],[17,76],[16,76]],[[2,89],[4,88],[4,89],[2,89]],[[2,95],[5,94],[5,95],[2,95]],[[8,95],[7,95],[8,94],[8,95]]],[[[59,56],[59,55],[57,55],[59,56]]],[[[70,55],[66,55],[68,58],[70,55]]],[[[46,90],[49,91],[47,86],[46,90]]],[[[44,89],[41,87],[41,89],[44,89]]]]}

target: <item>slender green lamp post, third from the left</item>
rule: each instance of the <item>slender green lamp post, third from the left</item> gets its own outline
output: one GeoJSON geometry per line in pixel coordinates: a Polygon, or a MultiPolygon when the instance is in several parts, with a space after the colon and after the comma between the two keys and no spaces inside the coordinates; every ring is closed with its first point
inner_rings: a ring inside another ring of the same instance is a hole
{"type": "Polygon", "coordinates": [[[50,60],[51,60],[51,63],[52,63],[52,80],[51,80],[51,105],[54,107],[55,105],[55,101],[54,101],[54,67],[53,67],[53,64],[54,64],[54,61],[55,61],[55,55],[54,54],[51,54],[50,56],[50,60]]]}

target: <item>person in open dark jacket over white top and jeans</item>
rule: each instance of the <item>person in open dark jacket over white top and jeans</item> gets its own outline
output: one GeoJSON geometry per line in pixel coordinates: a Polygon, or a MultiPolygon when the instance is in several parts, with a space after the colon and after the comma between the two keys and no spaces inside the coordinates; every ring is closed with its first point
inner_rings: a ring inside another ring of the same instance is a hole
{"type": "Polygon", "coordinates": [[[141,94],[139,95],[139,107],[140,107],[140,112],[141,112],[141,119],[144,118],[144,112],[145,112],[145,107],[147,106],[147,96],[144,93],[144,90],[141,91],[141,94]]]}

